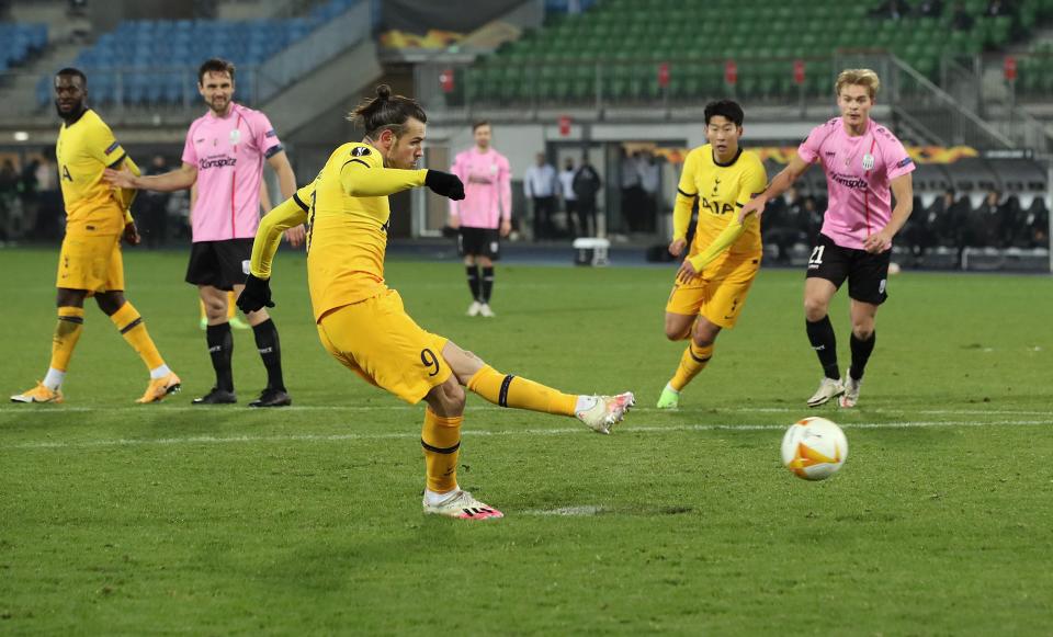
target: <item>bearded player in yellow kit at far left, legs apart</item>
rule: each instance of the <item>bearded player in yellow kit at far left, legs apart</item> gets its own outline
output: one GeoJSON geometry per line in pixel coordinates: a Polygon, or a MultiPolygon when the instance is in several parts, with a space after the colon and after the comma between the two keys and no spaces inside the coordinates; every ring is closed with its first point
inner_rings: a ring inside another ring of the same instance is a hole
{"type": "Polygon", "coordinates": [[[157,402],[179,391],[181,382],[161,359],[138,310],[124,298],[121,238],[139,242],[128,207],[133,192],[102,181],[107,167],[138,168],[110,127],[87,106],[88,78],[66,68],[55,76],[55,107],[63,118],[55,155],[66,205],[66,237],[58,259],[58,325],[52,362],[44,380],[11,397],[13,402],[61,402],[60,389],[84,325],[84,298],[95,303],[150,371],[150,383],[136,402],[157,402]]]}

